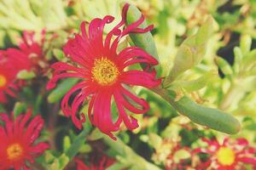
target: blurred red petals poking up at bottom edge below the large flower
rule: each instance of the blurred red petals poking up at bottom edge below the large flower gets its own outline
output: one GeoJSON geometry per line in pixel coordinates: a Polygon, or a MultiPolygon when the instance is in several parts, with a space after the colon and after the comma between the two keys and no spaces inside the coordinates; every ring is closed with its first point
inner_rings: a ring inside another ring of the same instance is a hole
{"type": "Polygon", "coordinates": [[[77,162],[77,170],[105,170],[110,167],[114,163],[114,159],[108,156],[102,156],[101,160],[92,160],[90,163],[90,167],[86,166],[83,161],[79,159],[75,159],[77,162]]]}

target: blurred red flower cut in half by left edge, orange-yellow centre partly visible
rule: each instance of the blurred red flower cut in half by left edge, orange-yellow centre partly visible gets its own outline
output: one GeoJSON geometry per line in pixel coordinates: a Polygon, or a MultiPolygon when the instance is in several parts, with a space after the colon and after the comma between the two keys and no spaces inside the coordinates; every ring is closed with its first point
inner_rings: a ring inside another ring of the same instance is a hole
{"type": "MultiPolygon", "coordinates": [[[[15,84],[15,77],[19,71],[12,62],[6,57],[5,51],[0,51],[0,103],[6,103],[6,94],[16,97],[15,91],[19,86],[15,84]]],[[[18,82],[17,82],[18,83],[18,82]]]]}

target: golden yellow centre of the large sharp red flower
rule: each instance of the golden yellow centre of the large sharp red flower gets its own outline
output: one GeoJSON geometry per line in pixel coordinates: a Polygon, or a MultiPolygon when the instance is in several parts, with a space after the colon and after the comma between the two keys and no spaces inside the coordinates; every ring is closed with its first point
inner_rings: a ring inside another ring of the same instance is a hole
{"type": "Polygon", "coordinates": [[[119,76],[119,69],[109,59],[96,59],[94,61],[94,67],[91,70],[92,79],[98,82],[102,86],[107,86],[116,82],[119,76]]]}

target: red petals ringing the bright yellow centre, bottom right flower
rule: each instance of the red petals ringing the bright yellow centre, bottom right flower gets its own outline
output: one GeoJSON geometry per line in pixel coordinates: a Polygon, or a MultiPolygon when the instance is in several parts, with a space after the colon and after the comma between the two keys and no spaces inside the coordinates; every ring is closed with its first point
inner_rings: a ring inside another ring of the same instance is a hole
{"type": "Polygon", "coordinates": [[[202,140],[207,143],[207,148],[197,148],[193,150],[193,154],[206,153],[210,157],[201,165],[200,169],[212,167],[210,169],[233,170],[245,169],[245,164],[256,165],[256,149],[249,146],[247,139],[225,138],[223,144],[219,144],[217,139],[203,138],[202,140]],[[235,161],[229,166],[221,164],[216,156],[218,150],[223,147],[229,148],[235,154],[235,161]]]}

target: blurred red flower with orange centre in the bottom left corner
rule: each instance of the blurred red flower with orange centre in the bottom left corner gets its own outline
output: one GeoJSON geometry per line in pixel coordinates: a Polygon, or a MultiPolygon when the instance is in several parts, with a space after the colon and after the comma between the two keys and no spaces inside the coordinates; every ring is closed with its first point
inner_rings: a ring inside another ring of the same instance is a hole
{"type": "Polygon", "coordinates": [[[43,154],[49,145],[44,142],[36,143],[44,120],[41,116],[36,116],[28,123],[32,111],[27,111],[25,115],[17,116],[15,120],[9,118],[5,113],[0,114],[0,121],[4,126],[0,126],[0,169],[15,170],[27,169],[27,162],[33,163],[34,158],[43,154]]]}

